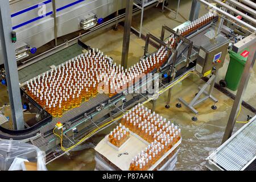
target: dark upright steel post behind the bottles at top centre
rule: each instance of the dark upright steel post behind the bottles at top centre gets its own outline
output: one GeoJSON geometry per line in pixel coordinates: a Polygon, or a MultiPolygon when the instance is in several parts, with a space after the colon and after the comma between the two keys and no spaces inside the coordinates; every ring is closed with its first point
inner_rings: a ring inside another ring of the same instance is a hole
{"type": "Polygon", "coordinates": [[[132,17],[133,17],[133,0],[126,0],[125,31],[123,32],[123,49],[122,49],[122,62],[121,62],[121,65],[124,68],[127,68],[132,17]]]}

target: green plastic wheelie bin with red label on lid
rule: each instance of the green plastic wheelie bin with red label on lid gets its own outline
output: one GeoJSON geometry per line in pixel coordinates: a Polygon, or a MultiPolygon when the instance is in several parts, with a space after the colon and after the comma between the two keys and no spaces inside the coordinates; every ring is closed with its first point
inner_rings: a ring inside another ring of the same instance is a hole
{"type": "Polygon", "coordinates": [[[242,77],[243,69],[249,55],[248,49],[244,49],[241,52],[230,51],[230,62],[228,71],[226,72],[226,87],[230,90],[236,91],[242,77]]]}

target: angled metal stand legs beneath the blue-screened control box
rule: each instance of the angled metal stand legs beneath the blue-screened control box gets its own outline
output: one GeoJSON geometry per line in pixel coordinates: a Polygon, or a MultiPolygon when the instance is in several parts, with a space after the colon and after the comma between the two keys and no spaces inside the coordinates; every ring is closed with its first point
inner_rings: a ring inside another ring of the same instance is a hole
{"type": "Polygon", "coordinates": [[[195,105],[200,104],[201,102],[207,100],[208,98],[213,100],[214,103],[218,102],[218,100],[211,95],[212,90],[214,88],[215,81],[216,81],[216,75],[212,75],[212,77],[209,78],[207,83],[204,84],[204,86],[202,88],[200,88],[199,93],[196,94],[195,98],[193,98],[193,100],[189,104],[186,101],[184,101],[182,98],[178,99],[179,102],[181,102],[185,106],[187,106],[190,110],[193,111],[193,113],[198,114],[199,112],[194,108],[195,105]],[[207,89],[207,87],[209,85],[210,85],[209,90],[208,90],[208,92],[206,92],[205,89],[207,89]],[[205,94],[205,97],[203,97],[199,100],[201,94],[205,94]]]}

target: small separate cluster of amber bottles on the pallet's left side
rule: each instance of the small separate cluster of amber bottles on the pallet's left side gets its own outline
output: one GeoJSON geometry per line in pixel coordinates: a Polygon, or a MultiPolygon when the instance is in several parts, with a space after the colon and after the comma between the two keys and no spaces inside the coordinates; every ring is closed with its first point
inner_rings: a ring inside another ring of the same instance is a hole
{"type": "Polygon", "coordinates": [[[121,123],[119,123],[119,126],[117,126],[108,135],[109,142],[112,143],[114,146],[117,146],[118,148],[121,147],[122,144],[125,143],[129,138],[129,129],[127,129],[125,126],[122,126],[121,123]]]}

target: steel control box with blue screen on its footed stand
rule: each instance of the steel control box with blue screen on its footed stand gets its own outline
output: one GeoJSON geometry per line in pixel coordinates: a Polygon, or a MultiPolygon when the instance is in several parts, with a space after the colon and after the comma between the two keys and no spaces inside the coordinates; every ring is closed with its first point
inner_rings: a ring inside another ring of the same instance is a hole
{"type": "MultiPolygon", "coordinates": [[[[208,34],[209,32],[207,32],[206,34],[208,34]]],[[[205,36],[206,34],[204,34],[203,36],[205,36]]],[[[205,40],[207,40],[206,36],[205,40]]],[[[225,56],[228,52],[228,46],[229,41],[224,38],[223,35],[219,35],[215,39],[208,40],[200,46],[195,71],[200,77],[207,77],[210,75],[210,78],[203,87],[199,88],[200,91],[196,94],[195,98],[193,98],[190,103],[187,103],[182,98],[179,98],[179,101],[187,106],[190,110],[192,110],[195,115],[199,112],[194,108],[194,106],[200,104],[208,98],[210,98],[214,102],[212,109],[217,109],[216,103],[218,102],[218,100],[212,96],[212,90],[216,82],[218,69],[222,68],[224,64],[225,56]],[[205,90],[208,88],[208,86],[209,90],[207,92],[205,90]],[[205,97],[200,98],[202,94],[204,94],[205,97]]],[[[181,104],[178,103],[176,104],[176,106],[181,107],[181,104]]],[[[192,120],[197,121],[196,116],[192,117],[192,120]]]]}

